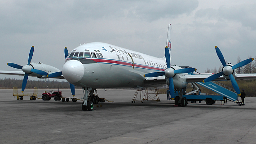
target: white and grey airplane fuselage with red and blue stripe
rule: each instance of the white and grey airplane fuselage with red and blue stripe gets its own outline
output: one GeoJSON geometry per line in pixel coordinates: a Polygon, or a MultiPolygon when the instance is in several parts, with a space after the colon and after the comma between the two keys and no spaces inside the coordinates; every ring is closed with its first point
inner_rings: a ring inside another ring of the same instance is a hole
{"type": "MultiPolygon", "coordinates": [[[[69,82],[79,87],[159,87],[154,83],[157,78],[145,78],[151,72],[163,72],[167,68],[165,58],[152,57],[140,52],[106,43],[88,43],[72,50],[63,65],[62,75],[69,82]],[[73,53],[72,53],[73,52],[73,53]],[[154,80],[155,79],[155,80],[154,80]]],[[[181,69],[172,66],[173,69],[181,69]]],[[[184,88],[185,75],[173,77],[175,88],[184,88]]]]}

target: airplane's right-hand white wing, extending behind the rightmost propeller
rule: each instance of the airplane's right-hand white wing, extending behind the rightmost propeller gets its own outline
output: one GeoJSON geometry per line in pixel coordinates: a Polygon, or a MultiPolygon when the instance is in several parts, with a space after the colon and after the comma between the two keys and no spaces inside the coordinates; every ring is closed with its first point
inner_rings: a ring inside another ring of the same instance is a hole
{"type": "MultiPolygon", "coordinates": [[[[203,82],[204,79],[208,78],[212,74],[196,74],[196,75],[186,75],[187,83],[203,82]]],[[[235,80],[250,80],[256,79],[256,74],[236,74],[235,80]]],[[[226,80],[223,76],[215,79],[214,81],[224,81],[226,80]]]]}

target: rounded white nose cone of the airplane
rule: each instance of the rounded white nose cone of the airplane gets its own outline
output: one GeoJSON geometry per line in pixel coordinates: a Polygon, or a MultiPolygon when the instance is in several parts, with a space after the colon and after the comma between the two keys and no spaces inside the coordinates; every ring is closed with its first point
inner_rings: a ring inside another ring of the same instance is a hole
{"type": "Polygon", "coordinates": [[[63,65],[62,75],[69,83],[76,83],[84,76],[84,65],[76,60],[67,61],[63,65]]]}

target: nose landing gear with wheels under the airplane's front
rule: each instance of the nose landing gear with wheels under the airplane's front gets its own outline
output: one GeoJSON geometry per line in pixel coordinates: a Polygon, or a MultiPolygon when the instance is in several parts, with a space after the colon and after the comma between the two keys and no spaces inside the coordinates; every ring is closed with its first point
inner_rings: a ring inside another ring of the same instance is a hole
{"type": "Polygon", "coordinates": [[[82,103],[82,109],[83,110],[93,110],[94,105],[98,108],[99,105],[102,107],[100,102],[104,102],[99,99],[99,96],[97,96],[97,90],[91,87],[83,87],[84,92],[84,102],[82,103]],[[99,105],[98,105],[99,104],[99,105]]]}

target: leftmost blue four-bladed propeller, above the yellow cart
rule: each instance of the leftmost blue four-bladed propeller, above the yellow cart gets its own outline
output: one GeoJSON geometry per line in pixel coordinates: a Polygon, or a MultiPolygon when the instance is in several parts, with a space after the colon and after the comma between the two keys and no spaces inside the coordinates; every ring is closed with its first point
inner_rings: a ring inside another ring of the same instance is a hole
{"type": "Polygon", "coordinates": [[[9,65],[10,67],[20,69],[25,73],[23,81],[22,81],[22,92],[24,92],[24,90],[25,90],[29,74],[31,74],[31,73],[36,73],[36,74],[40,74],[40,75],[47,75],[48,74],[47,72],[45,72],[43,70],[36,70],[36,69],[33,68],[32,65],[30,65],[32,57],[33,57],[33,53],[34,53],[34,46],[32,46],[31,49],[30,49],[30,52],[29,52],[29,55],[28,55],[27,65],[21,66],[21,65],[14,64],[14,63],[7,63],[7,65],[9,65]]]}

